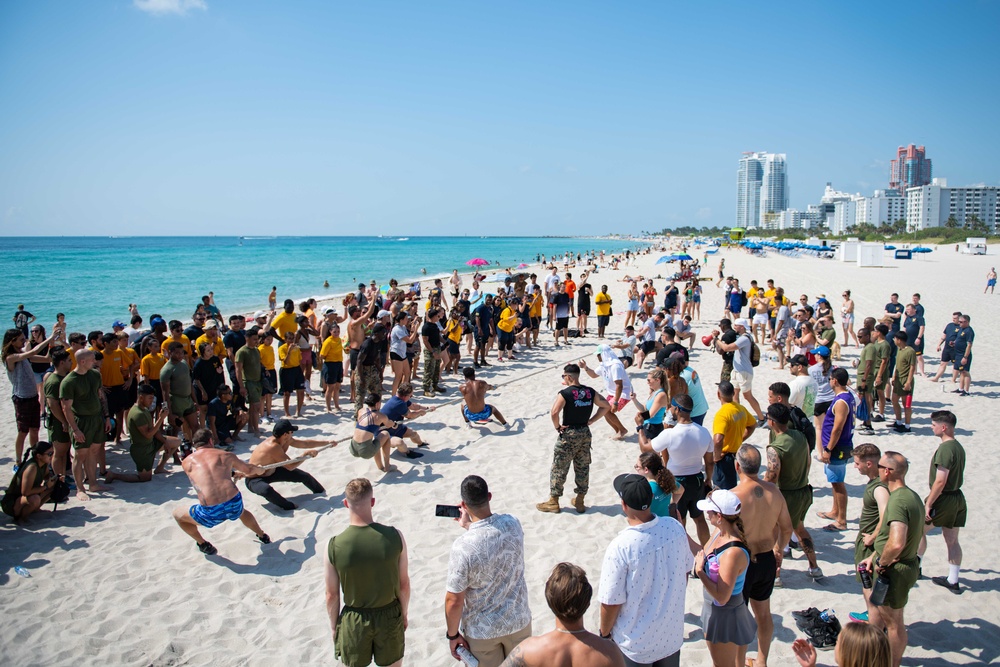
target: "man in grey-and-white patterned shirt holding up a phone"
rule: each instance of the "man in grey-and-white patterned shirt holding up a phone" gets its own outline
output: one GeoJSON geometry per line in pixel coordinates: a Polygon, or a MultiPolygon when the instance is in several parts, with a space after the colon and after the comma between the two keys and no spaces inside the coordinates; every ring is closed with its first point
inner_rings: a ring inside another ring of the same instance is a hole
{"type": "Polygon", "coordinates": [[[464,646],[479,667],[498,667],[531,636],[524,581],[524,530],[510,514],[494,514],[486,480],[462,480],[458,525],[466,533],[451,546],[444,598],[451,655],[464,646]]]}

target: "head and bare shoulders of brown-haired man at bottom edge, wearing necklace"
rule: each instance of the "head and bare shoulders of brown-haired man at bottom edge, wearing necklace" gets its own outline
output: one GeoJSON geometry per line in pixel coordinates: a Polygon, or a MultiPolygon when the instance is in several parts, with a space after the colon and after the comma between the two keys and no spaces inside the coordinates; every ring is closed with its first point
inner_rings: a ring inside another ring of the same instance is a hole
{"type": "Polygon", "coordinates": [[[583,627],[594,589],[583,568],[559,563],[545,582],[556,629],[514,647],[500,667],[625,667],[621,651],[583,627]]]}

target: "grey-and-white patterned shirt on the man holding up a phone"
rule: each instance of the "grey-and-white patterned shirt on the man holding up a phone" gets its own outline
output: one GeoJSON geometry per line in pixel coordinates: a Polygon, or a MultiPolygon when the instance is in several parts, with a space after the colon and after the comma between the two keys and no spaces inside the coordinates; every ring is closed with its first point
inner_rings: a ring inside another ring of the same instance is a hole
{"type": "Polygon", "coordinates": [[[524,582],[524,531],[510,514],[476,521],[455,540],[448,560],[449,593],[465,593],[462,634],[495,639],[531,622],[524,582]]]}

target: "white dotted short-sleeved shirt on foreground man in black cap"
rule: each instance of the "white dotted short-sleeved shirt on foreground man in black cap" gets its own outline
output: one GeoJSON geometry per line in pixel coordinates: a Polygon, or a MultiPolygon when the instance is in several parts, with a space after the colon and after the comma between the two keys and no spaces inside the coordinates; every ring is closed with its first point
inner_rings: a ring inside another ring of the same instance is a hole
{"type": "Polygon", "coordinates": [[[681,649],[693,565],[684,528],[670,517],[629,526],[608,545],[598,598],[622,605],[611,639],[629,660],[656,662],[681,649]]]}

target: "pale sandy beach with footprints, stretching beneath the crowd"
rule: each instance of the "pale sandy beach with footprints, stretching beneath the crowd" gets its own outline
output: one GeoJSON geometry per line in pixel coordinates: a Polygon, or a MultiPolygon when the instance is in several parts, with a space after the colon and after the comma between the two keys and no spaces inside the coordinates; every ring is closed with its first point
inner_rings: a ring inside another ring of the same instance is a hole
{"type": "MultiPolygon", "coordinates": [[[[611,288],[615,317],[610,330],[615,335],[621,331],[623,317],[618,313],[625,305],[626,286],[620,282],[621,276],[655,275],[663,268],[653,266],[658,256],[641,257],[635,266],[620,271],[602,270],[590,279],[595,289],[602,283],[611,288]]],[[[721,256],[726,258],[727,273],[739,276],[741,282],[774,278],[790,296],[805,293],[812,300],[825,293],[835,308],[839,306],[839,290],[851,289],[859,320],[880,314],[890,292],[899,292],[904,302],[911,293],[920,292],[929,343],[936,344],[953,310],[972,315],[972,326],[980,335],[973,395],[959,398],[942,393],[939,385],[920,379],[913,433],[901,436],[883,427],[871,440],[883,450],[895,449],[910,458],[909,483],[923,496],[927,466],[936,446],[929,412],[948,408],[958,415],[958,437],[969,456],[964,488],[970,516],[963,531],[962,571],[962,583],[968,588],[962,596],[955,596],[929,579],[918,583],[906,609],[910,648],[904,664],[985,664],[1000,659],[1000,625],[996,621],[1000,568],[992,564],[990,538],[983,534],[988,525],[996,525],[990,508],[1000,502],[995,483],[1000,464],[983,458],[985,450],[981,449],[985,446],[983,434],[991,428],[989,415],[997,405],[992,401],[998,396],[998,354],[989,346],[988,332],[1000,325],[994,306],[1000,297],[982,294],[984,276],[996,257],[967,257],[946,249],[891,267],[859,269],[833,260],[777,255],[755,258],[737,250],[723,251],[721,256]]],[[[717,263],[717,259],[710,260],[709,273],[715,274],[717,263]]],[[[465,283],[469,284],[468,278],[465,283]]],[[[702,320],[696,328],[699,337],[711,330],[722,312],[721,290],[714,281],[703,284],[702,320]]],[[[662,292],[664,281],[657,281],[656,287],[662,292]]],[[[337,307],[339,310],[339,304],[337,307]]],[[[593,322],[591,330],[595,329],[593,322]]],[[[555,563],[569,560],[584,567],[596,587],[605,548],[625,526],[611,480],[632,470],[638,445],[635,436],[625,442],[613,441],[610,427],[598,425],[587,498],[592,508],[583,515],[550,515],[535,510],[535,503],[548,495],[554,440],[548,410],[559,389],[558,369],[582,355],[596,361],[593,336],[574,339],[572,346],[558,350],[551,337],[543,333],[542,339],[545,345],[541,350],[523,355],[515,363],[494,365],[482,374],[500,385],[490,401],[509,420],[517,420],[510,431],[496,425],[464,428],[458,407],[451,404],[454,393],[450,393],[421,401],[444,407],[412,424],[430,443],[430,450],[416,461],[395,460],[398,473],[382,476],[372,462],[352,458],[345,447],[337,447],[305,466],[326,486],[326,494],[311,497],[301,487],[279,487],[300,506],[291,516],[244,492],[247,507],[274,540],[267,547],[257,544],[242,526],[229,523],[207,531],[219,555],[211,559],[201,556],[170,518],[174,507],[189,505],[195,499],[187,478],[176,467],[147,484],[115,483],[111,493],[88,503],[71,500],[54,515],[37,516],[27,527],[0,518],[0,607],[7,620],[0,627],[0,664],[262,665],[276,660],[289,665],[335,664],[323,600],[321,559],[328,539],[346,525],[347,512],[340,501],[344,485],[357,476],[367,476],[376,483],[376,520],[400,528],[409,544],[412,601],[406,664],[457,664],[450,658],[444,639],[443,599],[450,545],[461,529],[447,519],[435,518],[434,505],[457,502],[459,483],[472,473],[490,483],[494,511],[509,512],[521,520],[535,632],[551,629],[552,615],[543,595],[545,579],[555,563]],[[15,574],[17,565],[30,570],[32,577],[15,574]]],[[[937,356],[932,352],[933,344],[928,347],[928,370],[933,370],[937,356]]],[[[692,365],[710,385],[718,377],[720,359],[700,345],[696,350],[692,365]]],[[[845,355],[844,362],[849,365],[857,352],[845,348],[845,355]]],[[[764,361],[758,369],[754,385],[761,400],[766,399],[768,384],[787,378],[773,366],[764,361]]],[[[644,387],[639,380],[641,372],[633,371],[632,376],[637,386],[644,387]]],[[[0,384],[9,391],[5,377],[0,384]]],[[[446,386],[455,384],[453,377],[446,378],[446,386]]],[[[645,398],[644,391],[641,395],[645,398]]],[[[712,397],[710,405],[711,415],[718,401],[712,397]]],[[[14,423],[9,401],[4,401],[0,410],[4,417],[0,420],[0,440],[5,443],[0,482],[6,485],[13,463],[14,423]]],[[[299,435],[305,438],[342,438],[353,428],[349,415],[327,415],[315,400],[306,414],[299,421],[299,435]]],[[[634,407],[626,408],[624,423],[631,424],[633,414],[634,407]]],[[[751,442],[761,445],[766,438],[765,432],[758,432],[751,442]]],[[[245,456],[252,444],[243,443],[237,451],[245,456]]],[[[117,469],[131,466],[126,452],[112,448],[108,462],[117,469]]],[[[849,470],[847,481],[851,493],[848,532],[824,533],[819,528],[825,522],[812,513],[806,519],[807,527],[814,529],[826,578],[811,582],[801,555],[786,560],[785,588],[776,590],[772,598],[773,665],[796,664],[789,648],[798,635],[791,610],[832,607],[846,620],[848,612],[863,609],[851,573],[863,480],[849,470]]],[[[813,466],[811,482],[817,489],[813,509],[828,508],[829,485],[821,466],[813,466]]],[[[924,572],[928,576],[947,572],[939,533],[931,539],[924,572]]],[[[690,583],[683,664],[710,664],[698,621],[701,599],[702,587],[690,583]]],[[[587,615],[591,629],[596,628],[597,613],[593,606],[587,615]]],[[[751,653],[753,650],[751,646],[751,653]]],[[[820,662],[834,664],[832,652],[822,654],[820,662]]]]}

